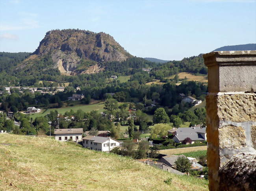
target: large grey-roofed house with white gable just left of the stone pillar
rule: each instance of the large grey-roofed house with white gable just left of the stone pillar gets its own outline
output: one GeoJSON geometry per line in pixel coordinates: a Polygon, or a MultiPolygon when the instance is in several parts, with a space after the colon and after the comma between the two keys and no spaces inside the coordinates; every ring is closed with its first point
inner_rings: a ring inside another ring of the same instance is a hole
{"type": "Polygon", "coordinates": [[[174,134],[173,140],[176,143],[182,143],[187,137],[192,140],[192,144],[195,141],[205,141],[206,137],[206,127],[194,126],[194,127],[182,127],[178,128],[174,134]]]}

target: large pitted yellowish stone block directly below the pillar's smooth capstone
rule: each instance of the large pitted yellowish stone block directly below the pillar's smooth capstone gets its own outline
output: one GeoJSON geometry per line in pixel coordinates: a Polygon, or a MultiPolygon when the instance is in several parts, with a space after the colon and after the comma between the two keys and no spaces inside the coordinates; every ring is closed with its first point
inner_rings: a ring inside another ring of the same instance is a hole
{"type": "Polygon", "coordinates": [[[256,121],[256,94],[217,96],[219,120],[256,121]]]}

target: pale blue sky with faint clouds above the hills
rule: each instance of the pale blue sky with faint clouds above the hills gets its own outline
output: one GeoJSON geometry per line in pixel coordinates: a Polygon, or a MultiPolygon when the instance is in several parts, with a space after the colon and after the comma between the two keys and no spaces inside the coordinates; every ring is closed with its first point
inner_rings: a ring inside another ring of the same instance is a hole
{"type": "Polygon", "coordinates": [[[0,51],[33,52],[52,29],[105,32],[138,57],[181,60],[256,43],[256,0],[0,0],[0,51]]]}

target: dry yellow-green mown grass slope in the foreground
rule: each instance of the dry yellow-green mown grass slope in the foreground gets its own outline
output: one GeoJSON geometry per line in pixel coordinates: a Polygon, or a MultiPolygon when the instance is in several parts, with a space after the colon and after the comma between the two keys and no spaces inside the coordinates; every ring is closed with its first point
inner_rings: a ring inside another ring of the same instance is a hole
{"type": "Polygon", "coordinates": [[[206,180],[47,137],[0,134],[0,161],[1,191],[208,190],[206,180]]]}

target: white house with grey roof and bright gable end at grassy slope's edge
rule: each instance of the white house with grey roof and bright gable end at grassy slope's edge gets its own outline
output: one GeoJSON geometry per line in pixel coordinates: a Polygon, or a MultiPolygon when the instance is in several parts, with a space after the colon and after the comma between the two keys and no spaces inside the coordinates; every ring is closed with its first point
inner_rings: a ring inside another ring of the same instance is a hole
{"type": "Polygon", "coordinates": [[[83,138],[83,147],[95,151],[108,152],[119,146],[120,142],[110,137],[87,135],[83,138]]]}

